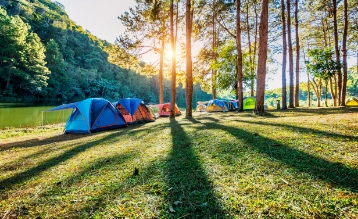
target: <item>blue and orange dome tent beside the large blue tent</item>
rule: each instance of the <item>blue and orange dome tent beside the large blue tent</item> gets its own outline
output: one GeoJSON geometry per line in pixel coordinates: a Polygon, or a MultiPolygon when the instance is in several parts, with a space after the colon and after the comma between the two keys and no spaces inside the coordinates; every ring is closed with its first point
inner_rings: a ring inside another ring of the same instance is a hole
{"type": "Polygon", "coordinates": [[[125,98],[119,100],[115,106],[119,112],[121,112],[124,120],[126,120],[128,124],[155,121],[149,109],[144,105],[141,99],[125,98]]]}

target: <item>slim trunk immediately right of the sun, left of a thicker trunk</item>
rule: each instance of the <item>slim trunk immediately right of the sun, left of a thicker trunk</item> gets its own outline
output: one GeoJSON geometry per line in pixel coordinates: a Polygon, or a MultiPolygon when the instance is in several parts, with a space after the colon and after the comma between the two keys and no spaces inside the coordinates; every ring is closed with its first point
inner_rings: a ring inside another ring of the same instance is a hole
{"type": "Polygon", "coordinates": [[[176,55],[175,55],[175,39],[174,39],[174,3],[170,0],[170,43],[172,47],[172,96],[170,106],[170,118],[175,118],[175,104],[176,104],[176,55]]]}

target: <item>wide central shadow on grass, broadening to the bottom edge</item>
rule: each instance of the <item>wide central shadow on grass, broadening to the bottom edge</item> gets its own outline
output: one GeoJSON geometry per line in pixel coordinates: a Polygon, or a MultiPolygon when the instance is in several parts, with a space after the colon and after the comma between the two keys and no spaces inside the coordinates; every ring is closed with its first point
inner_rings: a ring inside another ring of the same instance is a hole
{"type": "Polygon", "coordinates": [[[167,160],[167,202],[171,218],[225,218],[206,173],[195,155],[191,139],[181,125],[170,121],[172,150],[167,160]]]}

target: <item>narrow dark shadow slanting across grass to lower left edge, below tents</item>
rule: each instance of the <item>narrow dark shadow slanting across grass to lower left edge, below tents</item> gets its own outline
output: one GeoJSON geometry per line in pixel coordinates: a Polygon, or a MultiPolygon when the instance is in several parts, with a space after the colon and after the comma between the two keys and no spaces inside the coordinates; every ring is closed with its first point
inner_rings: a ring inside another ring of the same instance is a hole
{"type": "Polygon", "coordinates": [[[76,156],[77,154],[79,154],[89,148],[95,147],[97,144],[99,144],[103,141],[115,138],[117,136],[118,136],[118,133],[113,133],[113,134],[110,134],[110,135],[108,135],[104,138],[101,138],[99,140],[76,146],[76,147],[72,148],[71,150],[68,150],[59,156],[56,156],[56,157],[53,157],[47,161],[44,161],[43,163],[39,164],[38,166],[32,167],[28,170],[17,173],[14,176],[3,179],[0,181],[0,194],[2,194],[5,190],[9,190],[9,189],[13,188],[15,185],[24,183],[25,181],[29,180],[30,178],[39,175],[40,173],[48,170],[51,167],[58,165],[59,163],[62,163],[66,160],[71,159],[72,157],[76,156]]]}

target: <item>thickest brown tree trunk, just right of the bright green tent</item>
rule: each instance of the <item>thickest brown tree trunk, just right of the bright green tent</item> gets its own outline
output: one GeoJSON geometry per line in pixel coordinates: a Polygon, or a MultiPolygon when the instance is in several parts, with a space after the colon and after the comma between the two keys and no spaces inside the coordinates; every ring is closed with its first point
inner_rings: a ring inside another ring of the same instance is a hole
{"type": "Polygon", "coordinates": [[[266,61],[267,61],[267,40],[268,40],[268,0],[262,0],[262,11],[259,27],[259,58],[257,65],[257,85],[256,85],[256,104],[255,114],[265,112],[265,78],[266,78],[266,61]]]}

